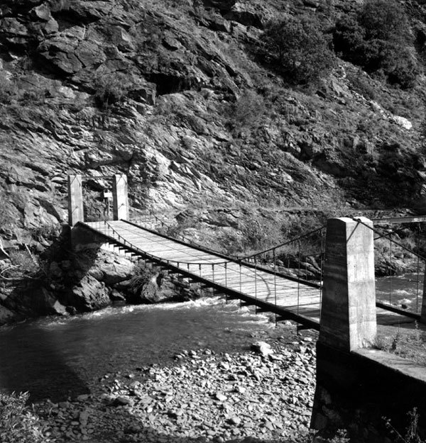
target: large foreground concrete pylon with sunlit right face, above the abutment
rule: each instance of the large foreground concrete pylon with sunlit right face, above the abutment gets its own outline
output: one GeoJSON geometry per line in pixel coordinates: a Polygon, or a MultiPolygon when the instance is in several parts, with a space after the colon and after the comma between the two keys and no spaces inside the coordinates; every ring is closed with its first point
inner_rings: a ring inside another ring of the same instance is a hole
{"type": "Polygon", "coordinates": [[[359,220],[327,222],[320,342],[346,352],[376,337],[373,222],[359,220]]]}

